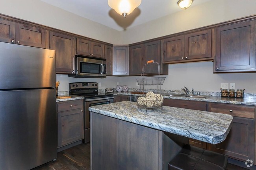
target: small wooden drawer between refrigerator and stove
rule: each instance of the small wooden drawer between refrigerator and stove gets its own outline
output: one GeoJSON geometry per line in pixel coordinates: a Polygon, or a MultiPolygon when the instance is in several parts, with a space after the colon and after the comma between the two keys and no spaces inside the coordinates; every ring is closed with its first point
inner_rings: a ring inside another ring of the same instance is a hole
{"type": "Polygon", "coordinates": [[[75,110],[79,108],[83,108],[83,100],[75,100],[70,102],[65,101],[65,102],[57,103],[57,112],[75,110]]]}

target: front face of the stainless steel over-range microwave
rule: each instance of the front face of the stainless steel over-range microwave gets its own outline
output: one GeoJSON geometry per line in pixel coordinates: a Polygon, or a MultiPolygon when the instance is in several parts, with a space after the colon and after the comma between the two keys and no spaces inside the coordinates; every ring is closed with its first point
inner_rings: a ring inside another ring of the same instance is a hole
{"type": "Polygon", "coordinates": [[[106,76],[106,61],[92,58],[76,58],[77,76],[106,76]]]}

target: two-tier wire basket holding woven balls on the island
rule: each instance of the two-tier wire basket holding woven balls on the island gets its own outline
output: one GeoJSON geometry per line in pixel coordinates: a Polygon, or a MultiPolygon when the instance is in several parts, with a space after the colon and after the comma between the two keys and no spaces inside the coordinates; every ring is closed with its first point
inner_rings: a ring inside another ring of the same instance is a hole
{"type": "Polygon", "coordinates": [[[161,85],[165,80],[165,77],[160,77],[160,65],[154,60],[150,60],[145,64],[141,71],[141,77],[136,78],[138,85],[140,85],[140,91],[145,92],[144,86],[153,85],[157,86],[156,93],[149,91],[146,95],[137,98],[137,108],[143,109],[159,109],[164,110],[163,108],[163,96],[161,95],[161,85]],[[157,64],[158,66],[158,75],[157,77],[144,77],[144,68],[148,64],[157,64]]]}

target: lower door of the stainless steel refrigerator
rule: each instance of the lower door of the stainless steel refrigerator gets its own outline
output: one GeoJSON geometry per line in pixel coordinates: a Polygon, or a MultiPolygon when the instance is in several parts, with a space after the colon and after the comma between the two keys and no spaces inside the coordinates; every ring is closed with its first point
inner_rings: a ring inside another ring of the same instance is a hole
{"type": "Polygon", "coordinates": [[[29,170],[57,157],[55,89],[0,91],[0,170],[29,170]]]}

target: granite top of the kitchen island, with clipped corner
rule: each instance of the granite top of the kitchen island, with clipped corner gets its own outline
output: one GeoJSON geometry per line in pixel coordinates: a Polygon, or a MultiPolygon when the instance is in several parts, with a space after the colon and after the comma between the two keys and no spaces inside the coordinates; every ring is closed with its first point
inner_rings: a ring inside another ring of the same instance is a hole
{"type": "Polygon", "coordinates": [[[228,135],[231,115],[163,106],[164,110],[138,109],[136,102],[116,102],[89,107],[89,111],[135,124],[217,144],[228,135]]]}

